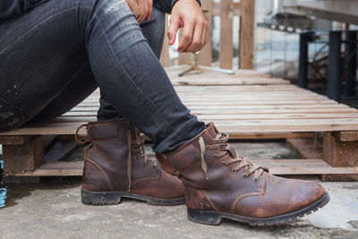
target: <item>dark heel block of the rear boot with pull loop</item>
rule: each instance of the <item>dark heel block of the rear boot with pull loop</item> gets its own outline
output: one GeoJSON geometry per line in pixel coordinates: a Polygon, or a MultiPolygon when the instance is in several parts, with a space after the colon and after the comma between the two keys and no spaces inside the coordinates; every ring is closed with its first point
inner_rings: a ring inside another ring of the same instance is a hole
{"type": "Polygon", "coordinates": [[[81,190],[81,201],[86,205],[114,205],[121,203],[121,198],[121,194],[118,192],[89,192],[81,190]]]}

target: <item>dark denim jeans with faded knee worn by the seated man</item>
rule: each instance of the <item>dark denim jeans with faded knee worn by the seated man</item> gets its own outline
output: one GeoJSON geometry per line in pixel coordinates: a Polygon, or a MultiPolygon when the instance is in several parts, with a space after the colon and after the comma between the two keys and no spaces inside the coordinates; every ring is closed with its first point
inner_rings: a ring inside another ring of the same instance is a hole
{"type": "Polygon", "coordinates": [[[155,10],[140,26],[124,0],[51,0],[6,21],[0,131],[62,115],[99,86],[98,118],[127,117],[156,152],[192,139],[204,124],[189,114],[158,62],[163,28],[164,13],[155,10]]]}

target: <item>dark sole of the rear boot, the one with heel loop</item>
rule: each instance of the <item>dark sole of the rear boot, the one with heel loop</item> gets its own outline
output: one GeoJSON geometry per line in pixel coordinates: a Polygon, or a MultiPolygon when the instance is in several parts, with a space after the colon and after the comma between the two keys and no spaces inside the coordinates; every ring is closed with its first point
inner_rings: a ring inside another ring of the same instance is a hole
{"type": "Polygon", "coordinates": [[[161,199],[144,196],[132,192],[90,192],[81,189],[81,201],[86,205],[103,206],[116,205],[121,203],[122,198],[130,198],[139,201],[146,201],[150,205],[174,206],[185,203],[185,198],[161,199]]]}

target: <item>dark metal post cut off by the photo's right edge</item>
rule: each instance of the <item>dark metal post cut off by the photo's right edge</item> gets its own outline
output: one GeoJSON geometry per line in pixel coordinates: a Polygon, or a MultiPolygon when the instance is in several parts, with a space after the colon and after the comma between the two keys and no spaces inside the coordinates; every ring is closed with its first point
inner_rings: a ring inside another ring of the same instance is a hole
{"type": "Polygon", "coordinates": [[[346,31],[346,71],[345,71],[345,94],[354,96],[354,87],[357,79],[357,30],[346,31]]]}

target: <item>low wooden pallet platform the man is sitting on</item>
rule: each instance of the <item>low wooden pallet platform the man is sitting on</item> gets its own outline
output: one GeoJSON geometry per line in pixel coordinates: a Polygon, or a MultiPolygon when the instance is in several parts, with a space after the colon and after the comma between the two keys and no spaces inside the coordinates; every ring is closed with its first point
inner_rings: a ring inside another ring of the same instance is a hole
{"type": "MultiPolygon", "coordinates": [[[[274,173],[358,174],[357,109],[253,71],[237,71],[235,75],[191,73],[185,77],[177,77],[176,72],[168,74],[192,114],[207,123],[214,122],[221,132],[228,132],[231,139],[310,140],[314,132],[324,132],[319,158],[260,160],[260,164],[271,166],[274,173]]],[[[98,98],[96,91],[53,122],[0,133],[4,157],[9,156],[5,158],[5,172],[8,175],[81,175],[81,163],[43,164],[44,160],[38,158],[43,158],[44,151],[35,145],[43,143],[41,135],[73,135],[79,125],[95,121],[98,98]],[[22,155],[15,155],[16,151],[22,155]],[[24,160],[32,160],[32,163],[24,167],[24,160]],[[10,161],[11,167],[6,163],[10,161]]]]}

